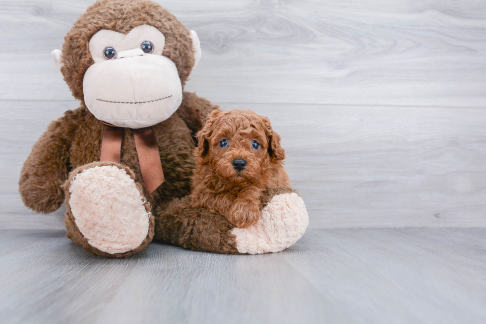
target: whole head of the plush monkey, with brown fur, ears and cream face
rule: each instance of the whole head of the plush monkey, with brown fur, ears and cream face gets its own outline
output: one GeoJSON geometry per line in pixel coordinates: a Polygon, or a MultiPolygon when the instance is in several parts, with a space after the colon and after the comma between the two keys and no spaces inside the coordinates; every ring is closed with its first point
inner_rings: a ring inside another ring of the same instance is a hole
{"type": "Polygon", "coordinates": [[[144,0],[96,2],[53,51],[74,97],[99,120],[128,128],[158,124],[179,108],[200,55],[196,32],[144,0]]]}

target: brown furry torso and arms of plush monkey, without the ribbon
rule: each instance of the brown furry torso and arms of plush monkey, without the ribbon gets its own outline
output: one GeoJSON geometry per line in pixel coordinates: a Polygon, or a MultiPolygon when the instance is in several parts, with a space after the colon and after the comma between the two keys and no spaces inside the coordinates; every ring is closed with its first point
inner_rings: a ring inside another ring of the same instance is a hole
{"type": "MultiPolygon", "coordinates": [[[[204,123],[207,114],[217,106],[194,93],[184,93],[182,104],[169,119],[154,126],[155,137],[164,170],[165,182],[148,200],[166,204],[175,197],[190,193],[194,169],[192,134],[204,123]],[[182,116],[182,117],[181,117],[182,116]],[[182,118],[185,118],[182,119],[182,118]]],[[[103,124],[82,105],[67,111],[51,123],[46,133],[34,144],[20,174],[19,191],[24,204],[41,213],[61,207],[64,191],[61,185],[71,170],[100,160],[103,124]]],[[[132,133],[127,129],[122,140],[122,164],[142,180],[132,133]]]]}

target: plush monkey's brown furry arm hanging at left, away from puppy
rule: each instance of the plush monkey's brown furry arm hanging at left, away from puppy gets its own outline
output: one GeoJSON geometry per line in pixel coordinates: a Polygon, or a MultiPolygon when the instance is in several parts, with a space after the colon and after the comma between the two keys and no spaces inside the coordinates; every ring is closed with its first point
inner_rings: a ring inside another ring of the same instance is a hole
{"type": "Polygon", "coordinates": [[[69,174],[69,148],[76,125],[74,113],[67,111],[52,122],[32,147],[20,172],[19,191],[30,209],[51,213],[61,207],[61,185],[69,174]]]}

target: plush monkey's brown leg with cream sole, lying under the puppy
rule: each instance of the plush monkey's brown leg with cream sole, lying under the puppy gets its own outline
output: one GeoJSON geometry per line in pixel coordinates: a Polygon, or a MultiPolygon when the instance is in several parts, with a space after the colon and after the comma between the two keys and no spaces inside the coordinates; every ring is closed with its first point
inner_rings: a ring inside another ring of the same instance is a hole
{"type": "Polygon", "coordinates": [[[235,228],[224,216],[175,199],[155,210],[156,240],[186,249],[226,254],[280,252],[293,245],[309,224],[304,201],[289,187],[267,189],[261,217],[248,228],[235,228]]]}

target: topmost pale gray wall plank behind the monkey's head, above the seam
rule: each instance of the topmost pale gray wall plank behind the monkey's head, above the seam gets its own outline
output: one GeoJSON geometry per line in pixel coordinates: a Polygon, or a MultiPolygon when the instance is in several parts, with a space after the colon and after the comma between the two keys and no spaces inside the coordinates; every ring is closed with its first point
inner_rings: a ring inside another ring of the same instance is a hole
{"type": "MultiPolygon", "coordinates": [[[[0,99],[71,98],[50,52],[91,3],[0,3],[0,99]]],[[[186,89],[212,101],[485,106],[482,0],[163,5],[198,32],[186,89]]]]}

